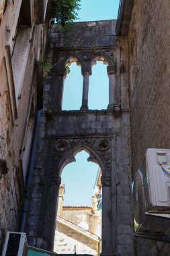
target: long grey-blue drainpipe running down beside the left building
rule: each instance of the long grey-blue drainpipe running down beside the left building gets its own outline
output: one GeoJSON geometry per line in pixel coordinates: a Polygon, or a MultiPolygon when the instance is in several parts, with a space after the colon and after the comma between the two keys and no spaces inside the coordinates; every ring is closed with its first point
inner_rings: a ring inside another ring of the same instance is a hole
{"type": "Polygon", "coordinates": [[[34,171],[34,162],[35,162],[35,158],[36,158],[36,146],[37,146],[37,141],[38,141],[38,131],[40,129],[40,117],[41,117],[41,110],[38,110],[37,116],[36,116],[34,138],[33,138],[33,143],[32,143],[30,167],[28,170],[28,178],[27,178],[27,183],[26,183],[26,195],[25,195],[26,199],[24,199],[24,203],[22,206],[22,216],[21,216],[21,221],[19,224],[19,232],[24,232],[24,229],[26,226],[26,218],[27,218],[27,213],[28,213],[28,198],[30,197],[30,187],[32,185],[32,175],[33,175],[33,171],[34,171]]]}

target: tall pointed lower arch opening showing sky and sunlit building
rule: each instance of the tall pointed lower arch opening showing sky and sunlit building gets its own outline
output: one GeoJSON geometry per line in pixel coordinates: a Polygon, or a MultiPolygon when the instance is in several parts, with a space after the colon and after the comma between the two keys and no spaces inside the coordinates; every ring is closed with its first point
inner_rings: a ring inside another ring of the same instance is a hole
{"type": "Polygon", "coordinates": [[[85,148],[61,170],[54,251],[60,254],[101,252],[101,168],[85,148]]]}

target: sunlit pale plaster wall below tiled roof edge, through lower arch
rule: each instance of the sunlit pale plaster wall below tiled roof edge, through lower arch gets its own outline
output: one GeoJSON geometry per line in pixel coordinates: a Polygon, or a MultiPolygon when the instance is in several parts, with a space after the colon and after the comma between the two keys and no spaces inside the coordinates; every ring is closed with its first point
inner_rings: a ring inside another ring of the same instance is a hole
{"type": "MultiPolygon", "coordinates": [[[[101,213],[101,212],[100,212],[101,213]]],[[[62,218],[69,222],[99,236],[101,238],[101,214],[94,214],[91,207],[63,207],[62,218]]],[[[58,217],[57,217],[58,218],[58,217]]],[[[56,218],[56,220],[57,220],[56,218]]],[[[69,223],[68,222],[68,223],[69,223]]],[[[81,232],[83,232],[83,229],[81,232]]],[[[56,221],[56,232],[54,239],[54,251],[56,253],[74,253],[75,245],[77,253],[98,253],[99,241],[81,234],[75,229],[56,221]]],[[[97,239],[97,237],[96,237],[97,239]]]]}

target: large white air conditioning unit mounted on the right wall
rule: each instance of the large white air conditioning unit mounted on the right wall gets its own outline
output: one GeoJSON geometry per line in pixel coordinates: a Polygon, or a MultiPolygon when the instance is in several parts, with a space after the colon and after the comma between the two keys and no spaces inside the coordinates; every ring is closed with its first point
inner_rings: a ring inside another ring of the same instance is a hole
{"type": "Polygon", "coordinates": [[[167,232],[170,218],[170,150],[146,150],[146,157],[134,177],[133,203],[136,231],[167,232]]]}

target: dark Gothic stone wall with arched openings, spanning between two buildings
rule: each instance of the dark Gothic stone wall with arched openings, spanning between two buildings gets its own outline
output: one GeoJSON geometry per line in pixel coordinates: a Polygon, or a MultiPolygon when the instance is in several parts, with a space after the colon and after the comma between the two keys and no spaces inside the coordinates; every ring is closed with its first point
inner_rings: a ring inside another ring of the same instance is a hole
{"type": "MultiPolygon", "coordinates": [[[[54,222],[56,221],[54,217],[60,185],[59,172],[62,169],[58,164],[61,158],[66,158],[66,162],[73,160],[73,153],[69,155],[69,149],[77,150],[76,147],[78,150],[85,147],[91,154],[95,154],[97,141],[104,138],[108,141],[107,143],[111,143],[111,147],[107,154],[104,151],[98,152],[103,161],[101,161],[101,166],[108,161],[108,168],[111,166],[112,169],[107,176],[105,174],[107,168],[103,168],[103,187],[105,187],[103,189],[103,198],[105,198],[103,199],[105,204],[103,222],[105,224],[103,224],[102,243],[107,251],[104,254],[134,255],[127,84],[128,49],[124,41],[120,40],[118,44],[115,44],[115,25],[115,21],[77,23],[73,25],[71,32],[67,32],[67,37],[58,30],[56,24],[50,28],[48,56],[52,57],[54,63],[59,61],[60,65],[54,67],[44,82],[44,110],[41,117],[26,228],[30,245],[52,249],[52,236],[54,237],[54,222]],[[108,37],[106,36],[106,40],[105,29],[107,33],[110,33],[108,37]],[[95,33],[94,38],[91,31],[95,33]],[[69,33],[73,35],[71,40],[69,40],[69,33]],[[74,47],[72,42],[77,42],[79,33],[81,42],[74,47]],[[95,40],[97,40],[97,45],[93,45],[96,43],[95,40]],[[58,88],[62,88],[65,63],[70,57],[77,57],[82,69],[89,70],[91,61],[97,56],[104,56],[106,60],[108,59],[110,67],[113,67],[115,60],[117,61],[116,92],[114,92],[116,93],[114,102],[116,108],[80,111],[62,111],[61,108],[57,108],[56,104],[62,94],[62,89],[58,88]],[[57,146],[58,141],[64,143],[65,151],[60,152],[57,146]]],[[[107,152],[107,149],[105,150],[107,152]]],[[[91,159],[96,156],[93,154],[91,159]]]]}

